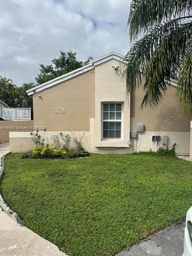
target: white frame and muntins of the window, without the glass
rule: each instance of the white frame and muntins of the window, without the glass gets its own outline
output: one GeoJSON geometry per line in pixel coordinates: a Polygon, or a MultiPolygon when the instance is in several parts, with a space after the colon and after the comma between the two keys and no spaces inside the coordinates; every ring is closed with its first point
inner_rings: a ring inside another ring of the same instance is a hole
{"type": "Polygon", "coordinates": [[[101,140],[110,140],[110,141],[122,141],[123,140],[123,120],[124,120],[124,102],[116,102],[116,101],[109,101],[109,102],[101,102],[101,140]],[[104,119],[103,120],[103,104],[121,104],[121,119],[104,119]],[[103,138],[103,122],[121,122],[121,138],[103,138]]]}

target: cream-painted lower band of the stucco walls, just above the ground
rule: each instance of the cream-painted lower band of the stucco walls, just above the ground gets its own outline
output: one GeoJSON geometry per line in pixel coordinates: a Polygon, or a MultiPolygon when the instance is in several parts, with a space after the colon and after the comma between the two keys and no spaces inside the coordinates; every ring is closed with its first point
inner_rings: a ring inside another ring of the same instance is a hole
{"type": "MultiPolygon", "coordinates": [[[[160,143],[152,142],[152,135],[166,135],[168,136],[168,146],[172,147],[172,144],[176,143],[176,154],[188,155],[190,152],[190,132],[144,132],[138,134],[137,139],[131,139],[131,146],[126,147],[95,147],[94,142],[94,118],[90,119],[90,132],[69,132],[69,131],[58,131],[58,132],[40,132],[42,138],[45,139],[46,143],[53,143],[53,136],[62,132],[63,134],[69,134],[72,140],[73,146],[73,135],[77,138],[82,139],[83,147],[91,153],[101,154],[131,154],[133,152],[149,151],[156,152],[158,148],[163,145],[160,143]]],[[[191,141],[192,145],[192,141],[191,141]]],[[[163,147],[165,147],[164,145],[163,147]]],[[[30,132],[10,132],[10,151],[11,152],[26,152],[32,150],[33,141],[30,132]]]]}

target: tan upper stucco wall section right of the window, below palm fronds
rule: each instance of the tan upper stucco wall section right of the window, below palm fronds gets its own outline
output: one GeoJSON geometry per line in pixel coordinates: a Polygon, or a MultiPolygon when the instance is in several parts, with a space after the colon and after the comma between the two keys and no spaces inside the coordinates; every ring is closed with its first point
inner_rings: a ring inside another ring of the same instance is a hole
{"type": "Polygon", "coordinates": [[[141,110],[144,92],[142,88],[136,89],[131,94],[132,129],[134,126],[136,128],[137,123],[143,123],[147,132],[190,132],[190,118],[184,119],[182,109],[178,106],[175,90],[175,87],[168,86],[157,108],[141,110]]]}

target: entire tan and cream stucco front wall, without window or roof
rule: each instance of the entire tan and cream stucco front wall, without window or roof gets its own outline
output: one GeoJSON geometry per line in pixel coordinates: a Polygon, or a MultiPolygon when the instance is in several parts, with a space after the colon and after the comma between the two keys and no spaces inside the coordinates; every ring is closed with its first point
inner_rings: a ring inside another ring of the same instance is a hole
{"type": "MultiPolygon", "coordinates": [[[[77,136],[83,136],[83,146],[89,152],[125,154],[150,149],[156,151],[162,143],[152,142],[152,135],[166,135],[169,147],[176,143],[177,154],[189,154],[190,120],[183,118],[175,88],[168,87],[162,103],[155,110],[141,110],[142,89],[136,89],[131,99],[127,99],[121,71],[115,71],[111,67],[113,65],[119,65],[119,61],[113,59],[96,65],[94,70],[34,95],[34,126],[47,127],[46,142],[51,143],[51,136],[57,131],[63,134],[75,131],[77,136]],[[42,98],[38,98],[38,95],[42,98]],[[102,102],[123,102],[121,140],[102,140],[102,102]],[[65,108],[65,114],[55,114],[54,109],[58,107],[65,108]],[[134,131],[137,123],[143,123],[145,131],[138,134],[137,140],[131,139],[130,130],[134,131]]],[[[41,133],[44,135],[44,132],[41,133]]],[[[11,134],[12,152],[16,152],[18,147],[22,151],[32,149],[32,138],[26,137],[27,134],[11,134]]]]}

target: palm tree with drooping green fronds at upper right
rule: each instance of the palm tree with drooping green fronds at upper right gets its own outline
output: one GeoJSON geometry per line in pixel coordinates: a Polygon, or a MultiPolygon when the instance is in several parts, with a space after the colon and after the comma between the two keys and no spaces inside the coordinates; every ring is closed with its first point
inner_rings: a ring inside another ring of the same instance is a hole
{"type": "Polygon", "coordinates": [[[156,107],[170,78],[178,78],[176,95],[184,114],[192,114],[192,1],[132,0],[129,35],[133,42],[125,56],[127,93],[141,86],[141,107],[156,107]],[[138,36],[144,36],[138,40],[138,36]]]}

